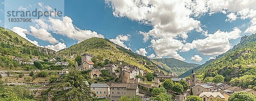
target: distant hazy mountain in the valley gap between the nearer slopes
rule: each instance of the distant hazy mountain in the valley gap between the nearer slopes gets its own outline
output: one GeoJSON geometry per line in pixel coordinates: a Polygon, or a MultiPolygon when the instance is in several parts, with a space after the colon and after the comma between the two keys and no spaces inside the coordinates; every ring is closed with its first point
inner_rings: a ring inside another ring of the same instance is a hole
{"type": "Polygon", "coordinates": [[[174,58],[152,59],[153,63],[157,64],[160,69],[166,71],[169,74],[175,74],[179,76],[192,68],[200,66],[195,63],[186,63],[174,58]]]}

